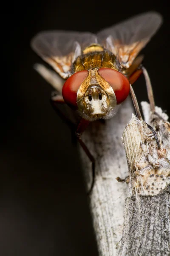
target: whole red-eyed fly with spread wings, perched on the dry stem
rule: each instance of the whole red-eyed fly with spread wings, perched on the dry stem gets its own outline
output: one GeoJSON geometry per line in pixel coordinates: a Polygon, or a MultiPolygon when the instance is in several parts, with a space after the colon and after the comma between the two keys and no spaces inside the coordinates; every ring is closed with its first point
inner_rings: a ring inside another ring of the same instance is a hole
{"type": "MultiPolygon", "coordinates": [[[[32,49],[59,74],[42,65],[37,71],[57,90],[62,93],[51,98],[52,105],[66,103],[77,111],[81,120],[77,126],[77,139],[92,162],[93,181],[95,160],[81,140],[82,132],[88,124],[98,119],[110,119],[117,111],[117,106],[131,93],[136,115],[142,119],[132,84],[143,73],[147,91],[152,95],[152,88],[147,71],[142,66],[143,56],[139,52],[150,41],[162,23],[162,17],[156,12],[137,15],[114,26],[90,32],[44,31],[31,41],[32,49]],[[59,81],[59,84],[56,83],[59,81]]],[[[154,112],[154,100],[150,97],[151,110],[154,112]]],[[[156,132],[152,127],[159,141],[156,132]]]]}

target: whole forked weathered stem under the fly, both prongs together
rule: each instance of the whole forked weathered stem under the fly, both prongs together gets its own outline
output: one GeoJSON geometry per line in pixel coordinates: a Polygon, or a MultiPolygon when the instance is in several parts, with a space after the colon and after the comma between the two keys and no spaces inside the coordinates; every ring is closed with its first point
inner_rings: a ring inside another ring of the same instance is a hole
{"type": "MultiPolygon", "coordinates": [[[[82,137],[96,159],[96,181],[89,200],[100,256],[170,253],[170,124],[160,108],[156,111],[165,121],[153,116],[146,102],[142,108],[147,123],[156,124],[159,150],[146,123],[134,115],[130,120],[128,100],[113,119],[92,123],[82,137]],[[154,123],[150,122],[153,118],[154,123]],[[125,180],[116,180],[117,176],[127,177],[128,189],[126,183],[118,183],[125,180]]],[[[89,186],[91,166],[82,150],[81,155],[89,186]]]]}

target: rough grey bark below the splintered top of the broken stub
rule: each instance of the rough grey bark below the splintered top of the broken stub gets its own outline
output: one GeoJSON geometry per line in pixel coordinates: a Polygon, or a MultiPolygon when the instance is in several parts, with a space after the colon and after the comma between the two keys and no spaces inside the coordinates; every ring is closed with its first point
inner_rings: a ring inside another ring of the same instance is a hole
{"type": "Polygon", "coordinates": [[[127,197],[119,255],[170,255],[170,191],[127,197]]]}

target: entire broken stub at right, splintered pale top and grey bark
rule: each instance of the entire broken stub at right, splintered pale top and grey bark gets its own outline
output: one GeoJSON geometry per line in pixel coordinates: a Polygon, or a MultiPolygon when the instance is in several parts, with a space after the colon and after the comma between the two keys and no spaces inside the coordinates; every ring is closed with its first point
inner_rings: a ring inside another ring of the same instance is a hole
{"type": "Polygon", "coordinates": [[[133,115],[123,143],[129,168],[120,256],[170,255],[170,123],[142,102],[145,120],[156,127],[160,149],[143,121],[133,115]]]}

